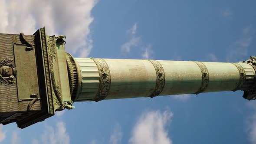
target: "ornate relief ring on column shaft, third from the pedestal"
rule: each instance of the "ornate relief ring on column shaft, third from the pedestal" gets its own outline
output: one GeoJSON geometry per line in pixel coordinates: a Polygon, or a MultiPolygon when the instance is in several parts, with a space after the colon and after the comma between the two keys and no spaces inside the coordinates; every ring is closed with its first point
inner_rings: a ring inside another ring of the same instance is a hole
{"type": "Polygon", "coordinates": [[[200,68],[201,72],[202,72],[202,83],[200,88],[197,90],[197,92],[195,92],[195,94],[199,94],[203,91],[206,90],[208,84],[209,84],[209,72],[207,67],[202,63],[202,62],[196,62],[194,61],[200,68]]]}

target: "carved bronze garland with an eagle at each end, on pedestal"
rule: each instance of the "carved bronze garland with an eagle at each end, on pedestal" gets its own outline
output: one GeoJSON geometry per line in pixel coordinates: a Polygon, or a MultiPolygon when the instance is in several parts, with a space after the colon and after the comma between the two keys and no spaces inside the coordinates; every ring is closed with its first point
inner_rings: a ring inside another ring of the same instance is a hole
{"type": "Polygon", "coordinates": [[[49,36],[49,39],[47,39],[47,50],[49,54],[49,68],[50,68],[50,74],[51,74],[51,80],[53,84],[53,94],[54,97],[54,104],[58,106],[56,111],[61,111],[64,108],[72,109],[75,108],[72,106],[73,101],[63,101],[62,100],[62,94],[59,88],[59,82],[56,81],[53,71],[53,65],[54,62],[56,62],[56,43],[58,44],[65,44],[66,42],[63,40],[63,38],[66,38],[66,36],[60,35],[60,36],[49,36]]]}

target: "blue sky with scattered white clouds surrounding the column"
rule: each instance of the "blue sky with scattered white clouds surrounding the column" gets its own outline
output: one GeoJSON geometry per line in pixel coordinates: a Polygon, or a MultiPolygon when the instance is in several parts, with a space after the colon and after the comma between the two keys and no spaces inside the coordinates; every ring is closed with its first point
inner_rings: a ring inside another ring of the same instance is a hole
{"type": "MultiPolygon", "coordinates": [[[[255,0],[0,1],[0,33],[67,36],[74,57],[238,62],[255,55],[255,0]]],[[[2,144],[256,144],[243,92],[77,102],[2,144]]]]}

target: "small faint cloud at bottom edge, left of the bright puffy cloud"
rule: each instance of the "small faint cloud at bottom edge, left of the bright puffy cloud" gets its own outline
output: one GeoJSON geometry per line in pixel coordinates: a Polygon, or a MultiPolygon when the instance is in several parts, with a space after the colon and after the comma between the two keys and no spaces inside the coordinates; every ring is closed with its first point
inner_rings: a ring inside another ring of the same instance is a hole
{"type": "Polygon", "coordinates": [[[121,131],[121,126],[119,124],[116,124],[112,134],[110,136],[110,144],[121,144],[121,139],[122,139],[122,131],[121,131]]]}

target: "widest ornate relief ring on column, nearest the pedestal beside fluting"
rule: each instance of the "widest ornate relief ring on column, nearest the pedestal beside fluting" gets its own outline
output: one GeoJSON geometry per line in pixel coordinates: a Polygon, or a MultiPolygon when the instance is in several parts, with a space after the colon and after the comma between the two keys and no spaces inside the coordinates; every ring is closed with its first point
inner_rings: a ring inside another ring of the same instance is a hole
{"type": "Polygon", "coordinates": [[[98,66],[99,76],[100,76],[100,84],[98,88],[98,93],[93,99],[93,101],[101,101],[105,99],[108,95],[110,89],[110,71],[108,68],[108,64],[104,59],[99,58],[91,58],[94,60],[96,65],[98,66]]]}

